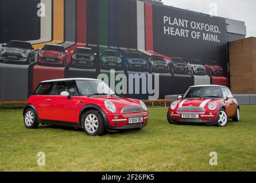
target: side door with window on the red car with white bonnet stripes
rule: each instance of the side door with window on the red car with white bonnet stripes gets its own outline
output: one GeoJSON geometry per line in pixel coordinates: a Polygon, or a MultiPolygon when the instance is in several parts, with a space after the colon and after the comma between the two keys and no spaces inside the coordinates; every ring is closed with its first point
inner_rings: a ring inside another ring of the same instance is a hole
{"type": "Polygon", "coordinates": [[[235,115],[235,102],[234,98],[227,98],[227,96],[232,96],[230,90],[227,87],[221,87],[223,98],[226,100],[224,101],[226,112],[228,117],[235,115]]]}

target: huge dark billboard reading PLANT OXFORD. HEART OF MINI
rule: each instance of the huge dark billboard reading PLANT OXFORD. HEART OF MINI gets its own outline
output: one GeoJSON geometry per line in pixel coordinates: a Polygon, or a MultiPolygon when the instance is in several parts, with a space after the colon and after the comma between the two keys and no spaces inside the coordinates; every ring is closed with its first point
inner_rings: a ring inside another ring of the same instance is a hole
{"type": "Polygon", "coordinates": [[[25,101],[56,78],[103,79],[142,99],[227,85],[224,18],[135,0],[3,0],[0,9],[0,101],[25,101]]]}

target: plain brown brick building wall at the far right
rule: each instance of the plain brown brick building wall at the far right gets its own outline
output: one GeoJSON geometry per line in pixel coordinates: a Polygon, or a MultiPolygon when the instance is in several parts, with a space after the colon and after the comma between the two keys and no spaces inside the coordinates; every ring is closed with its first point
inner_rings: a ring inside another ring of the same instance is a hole
{"type": "Polygon", "coordinates": [[[232,93],[256,93],[256,38],[230,42],[229,53],[232,93]]]}

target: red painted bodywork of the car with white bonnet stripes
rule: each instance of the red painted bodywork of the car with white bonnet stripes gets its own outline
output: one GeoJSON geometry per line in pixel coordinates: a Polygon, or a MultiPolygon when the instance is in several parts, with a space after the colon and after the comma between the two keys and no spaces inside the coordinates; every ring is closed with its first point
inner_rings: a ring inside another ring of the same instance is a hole
{"type": "MultiPolygon", "coordinates": [[[[226,88],[219,85],[202,85],[202,86],[192,86],[192,87],[220,87],[226,88]]],[[[192,88],[192,87],[189,87],[192,88]]],[[[220,89],[221,91],[221,89],[220,89]]],[[[211,94],[208,94],[211,95],[211,94]]],[[[223,94],[222,94],[223,96],[223,94]]],[[[220,110],[226,110],[228,119],[234,118],[236,116],[237,110],[239,109],[239,104],[235,98],[181,98],[176,101],[177,106],[171,109],[169,106],[168,110],[168,121],[170,123],[185,123],[185,124],[217,124],[219,120],[220,110]],[[210,110],[208,105],[211,102],[216,102],[216,109],[210,110]],[[183,118],[183,115],[196,114],[199,118],[183,118]]],[[[240,115],[240,113],[239,113],[240,115]]]]}

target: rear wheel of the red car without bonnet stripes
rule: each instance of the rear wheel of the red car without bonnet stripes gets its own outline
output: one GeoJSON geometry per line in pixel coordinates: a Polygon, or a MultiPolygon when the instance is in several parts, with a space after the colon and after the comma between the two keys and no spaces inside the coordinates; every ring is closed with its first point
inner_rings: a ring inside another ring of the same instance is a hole
{"type": "Polygon", "coordinates": [[[28,128],[28,129],[38,128],[39,123],[37,121],[37,114],[36,114],[36,112],[34,112],[34,110],[32,108],[26,109],[26,111],[24,113],[23,122],[24,122],[24,125],[26,126],[26,128],[28,128]],[[32,118],[32,116],[33,116],[33,118],[32,118]],[[30,122],[29,122],[29,120],[30,120],[30,122]]]}

